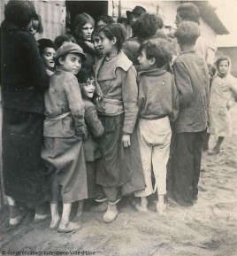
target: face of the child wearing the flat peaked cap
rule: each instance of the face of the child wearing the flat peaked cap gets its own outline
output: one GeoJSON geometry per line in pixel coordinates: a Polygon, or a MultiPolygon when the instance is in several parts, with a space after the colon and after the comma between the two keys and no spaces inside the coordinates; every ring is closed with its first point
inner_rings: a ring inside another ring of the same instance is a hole
{"type": "Polygon", "coordinates": [[[73,74],[78,74],[80,71],[81,58],[76,53],[68,53],[65,59],[59,58],[59,62],[65,71],[72,72],[73,74]]]}

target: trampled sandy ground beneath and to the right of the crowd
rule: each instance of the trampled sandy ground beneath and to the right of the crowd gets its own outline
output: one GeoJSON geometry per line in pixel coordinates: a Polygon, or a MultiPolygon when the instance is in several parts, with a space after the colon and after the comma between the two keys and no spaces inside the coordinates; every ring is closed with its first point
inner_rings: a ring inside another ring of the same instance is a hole
{"type": "MultiPolygon", "coordinates": [[[[154,198],[150,198],[149,213],[135,212],[125,198],[111,224],[103,223],[103,213],[87,207],[83,229],[73,234],[50,231],[50,220],[33,224],[32,215],[12,229],[4,209],[1,250],[6,254],[27,251],[27,255],[52,255],[49,251],[87,255],[89,251],[94,255],[237,256],[237,106],[232,112],[233,137],[226,139],[224,150],[215,156],[203,153],[195,206],[170,205],[167,215],[160,217],[154,198]]],[[[214,143],[212,137],[210,145],[214,143]]]]}

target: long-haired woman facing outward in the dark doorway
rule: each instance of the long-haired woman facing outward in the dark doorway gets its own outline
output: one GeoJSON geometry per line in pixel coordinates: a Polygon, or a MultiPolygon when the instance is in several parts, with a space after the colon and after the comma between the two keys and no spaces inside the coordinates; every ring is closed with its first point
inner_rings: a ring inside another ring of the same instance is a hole
{"type": "Polygon", "coordinates": [[[91,43],[95,20],[86,12],[77,14],[73,20],[72,33],[74,42],[77,43],[87,55],[87,60],[82,62],[81,70],[89,72],[95,64],[94,44],[91,43]]]}

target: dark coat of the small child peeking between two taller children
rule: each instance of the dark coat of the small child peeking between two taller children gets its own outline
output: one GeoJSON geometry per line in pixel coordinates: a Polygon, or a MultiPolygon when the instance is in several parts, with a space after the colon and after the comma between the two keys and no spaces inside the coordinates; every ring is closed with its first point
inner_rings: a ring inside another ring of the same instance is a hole
{"type": "Polygon", "coordinates": [[[96,105],[86,97],[83,97],[83,102],[85,105],[85,122],[88,131],[87,139],[83,142],[83,148],[86,161],[92,162],[101,157],[96,139],[103,136],[104,128],[101,120],[98,118],[96,105]]]}

